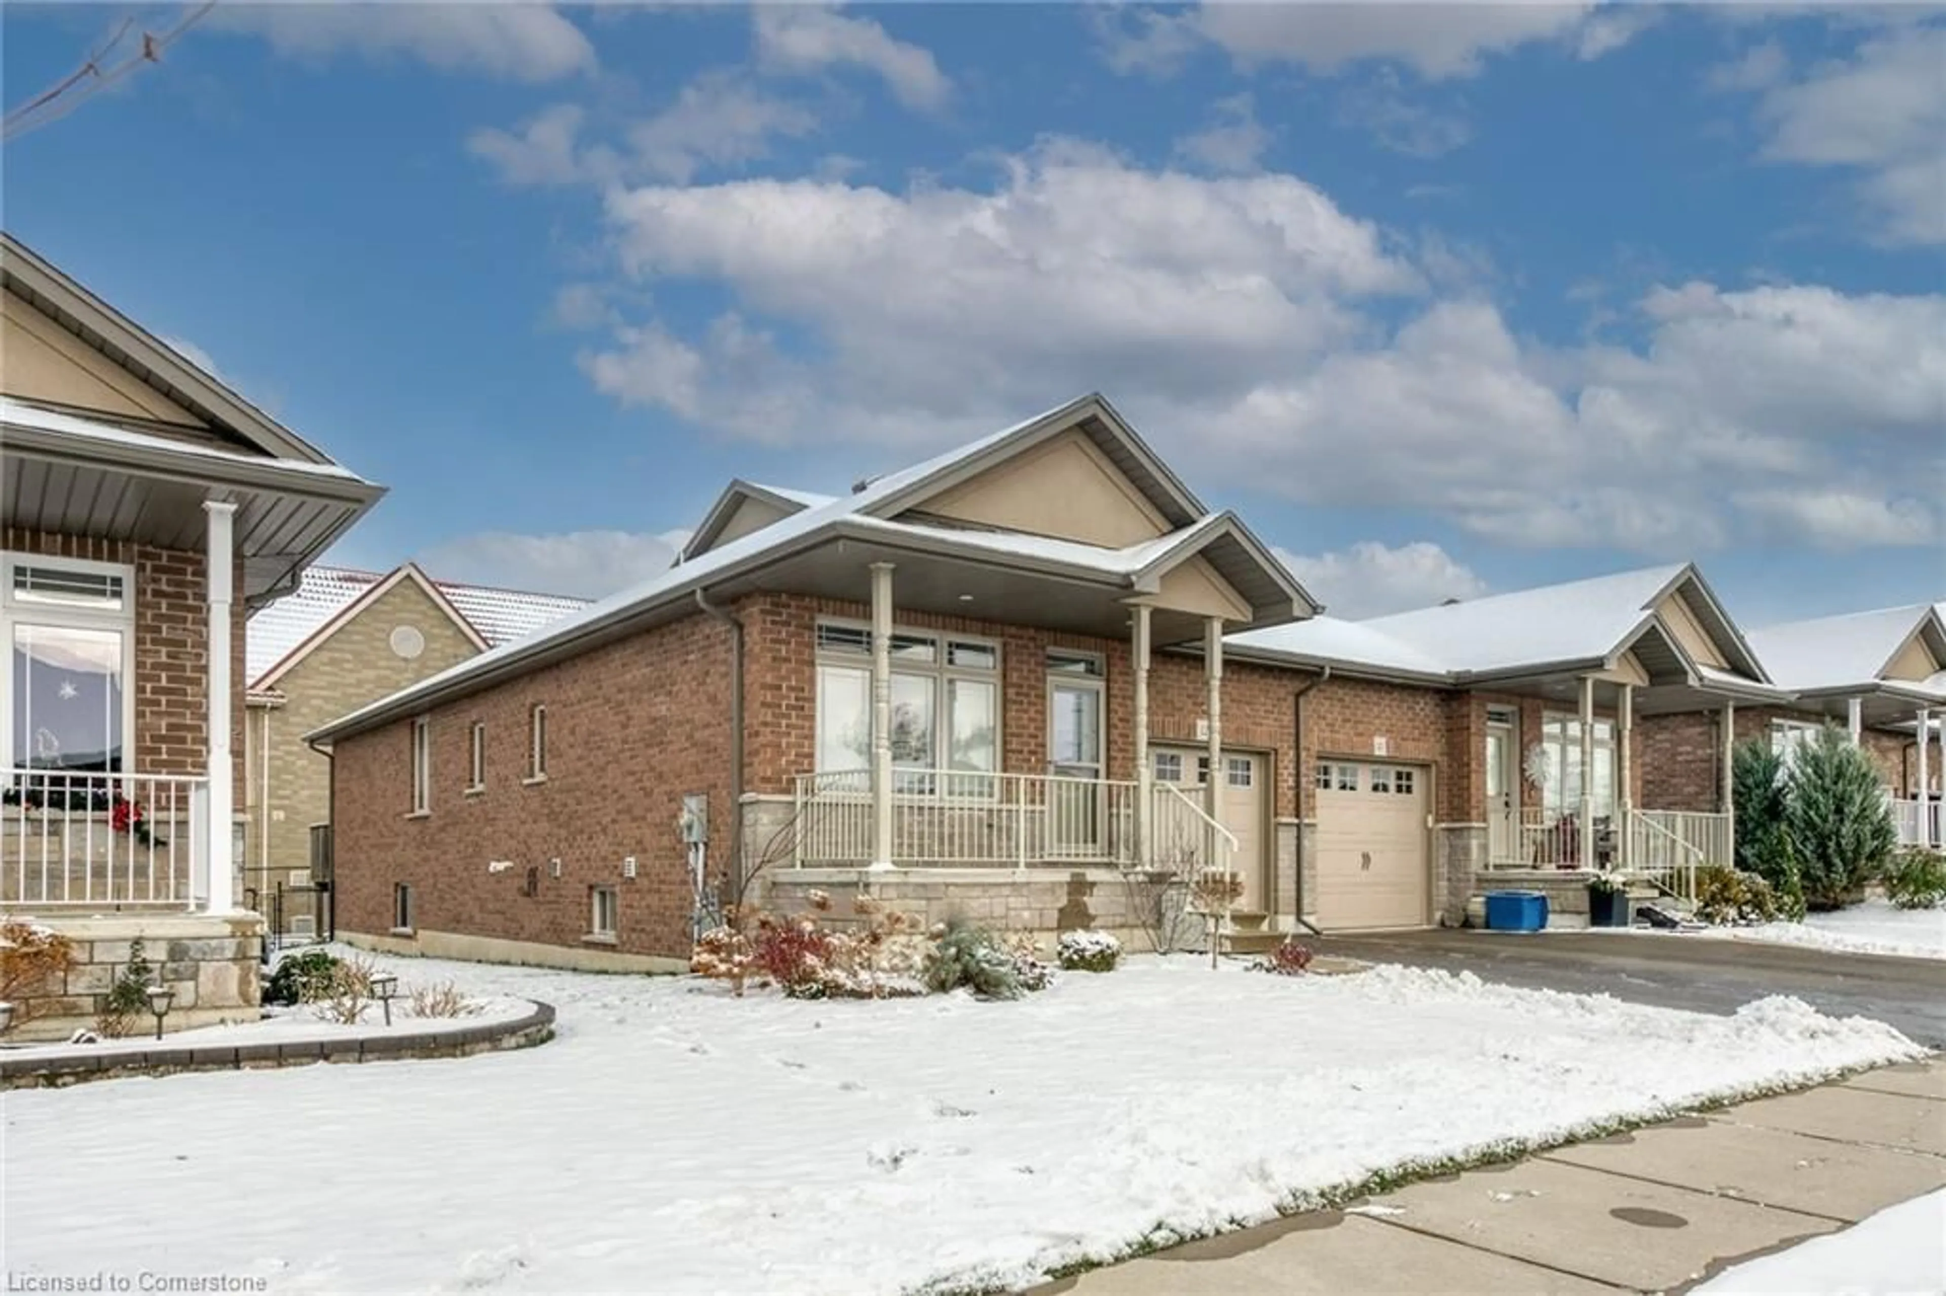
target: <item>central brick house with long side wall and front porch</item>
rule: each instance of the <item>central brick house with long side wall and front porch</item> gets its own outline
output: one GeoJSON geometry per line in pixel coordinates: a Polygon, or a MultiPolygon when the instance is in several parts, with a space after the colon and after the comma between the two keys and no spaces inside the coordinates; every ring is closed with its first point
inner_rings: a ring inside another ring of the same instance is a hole
{"type": "Polygon", "coordinates": [[[1312,611],[1099,397],[843,498],[734,483],[666,576],[311,736],[339,932],[683,967],[759,866],[1053,930],[1212,856],[1269,924],[1306,677],[1220,648],[1312,611]]]}

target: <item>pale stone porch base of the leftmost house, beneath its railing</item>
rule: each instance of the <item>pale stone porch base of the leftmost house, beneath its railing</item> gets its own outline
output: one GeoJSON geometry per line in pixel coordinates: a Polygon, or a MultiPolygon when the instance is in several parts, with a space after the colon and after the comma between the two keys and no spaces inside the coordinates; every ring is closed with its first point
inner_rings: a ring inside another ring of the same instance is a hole
{"type": "MultiPolygon", "coordinates": [[[[58,987],[16,990],[16,1002],[31,1016],[21,1022],[16,1014],[10,1041],[66,1039],[76,1029],[93,1029],[136,940],[156,977],[175,990],[163,1031],[259,1016],[263,918],[253,913],[37,915],[27,920],[66,936],[74,944],[74,963],[58,987]]],[[[144,1012],[130,1029],[154,1031],[156,1020],[144,1012]]]]}

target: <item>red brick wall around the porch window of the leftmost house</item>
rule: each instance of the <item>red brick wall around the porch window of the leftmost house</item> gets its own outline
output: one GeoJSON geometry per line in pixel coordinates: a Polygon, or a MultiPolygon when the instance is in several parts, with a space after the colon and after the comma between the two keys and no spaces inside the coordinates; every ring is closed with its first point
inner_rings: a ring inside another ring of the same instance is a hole
{"type": "MultiPolygon", "coordinates": [[[[204,773],[208,611],[202,555],[130,541],[0,527],[0,549],[134,568],[134,773],[204,773]]],[[[243,776],[243,564],[232,603],[232,765],[243,776]]],[[[237,798],[241,804],[241,796],[237,798]]]]}

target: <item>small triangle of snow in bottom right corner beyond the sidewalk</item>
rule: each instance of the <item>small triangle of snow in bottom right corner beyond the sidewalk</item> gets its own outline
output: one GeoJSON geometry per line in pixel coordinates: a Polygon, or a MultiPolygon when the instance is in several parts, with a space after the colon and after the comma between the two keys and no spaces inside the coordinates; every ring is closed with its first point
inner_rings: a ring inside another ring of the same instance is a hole
{"type": "Polygon", "coordinates": [[[1946,1189],[1726,1269],[1695,1290],[1712,1296],[1938,1296],[1946,1292],[1946,1189]]]}

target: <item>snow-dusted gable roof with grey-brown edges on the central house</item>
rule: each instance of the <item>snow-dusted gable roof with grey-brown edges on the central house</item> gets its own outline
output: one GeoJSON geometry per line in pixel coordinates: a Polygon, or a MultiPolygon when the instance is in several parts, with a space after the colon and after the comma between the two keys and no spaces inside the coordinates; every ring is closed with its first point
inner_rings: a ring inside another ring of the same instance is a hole
{"type": "Polygon", "coordinates": [[[440,697],[486,687],[496,679],[518,675],[545,660],[572,656],[595,642],[627,632],[631,625],[644,621],[660,609],[703,601],[706,588],[714,582],[743,576],[821,545],[827,539],[841,537],[897,537],[946,555],[987,553],[992,555],[996,564],[1006,562],[1024,570],[1119,584],[1131,590],[1131,594],[1138,592],[1138,580],[1148,574],[1148,568],[1158,558],[1170,557],[1170,547],[1203,541],[1207,545],[1234,547],[1236,553],[1243,555],[1263,555],[1267,562],[1265,580],[1273,582],[1279,597],[1284,599],[1284,617],[1310,615],[1317,607],[1296,578],[1269,555],[1240,520],[1230,514],[1210,518],[1201,500],[1135,436],[1107,401],[1098,393],[1090,393],[957,450],[948,450],[913,467],[862,483],[852,494],[806,506],[749,535],[699,553],[667,572],[562,617],[539,634],[485,652],[409,689],[401,689],[387,699],[362,706],[323,726],[309,738],[325,739],[356,734],[383,724],[395,714],[428,706],[440,697]],[[1117,467],[1123,463],[1133,465],[1142,477],[1142,483],[1136,483],[1142,494],[1158,500],[1158,510],[1177,527],[1203,523],[1208,529],[1199,529],[1195,537],[1177,531],[1158,541],[1117,551],[1039,535],[932,527],[893,520],[897,514],[965,481],[987,465],[1076,426],[1088,430],[1090,438],[1098,440],[1098,444],[1113,444],[1113,450],[1103,448],[1103,453],[1117,467]]]}

